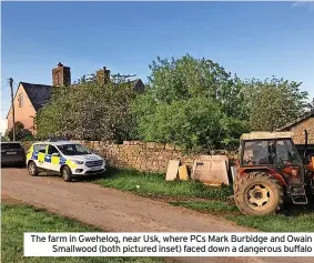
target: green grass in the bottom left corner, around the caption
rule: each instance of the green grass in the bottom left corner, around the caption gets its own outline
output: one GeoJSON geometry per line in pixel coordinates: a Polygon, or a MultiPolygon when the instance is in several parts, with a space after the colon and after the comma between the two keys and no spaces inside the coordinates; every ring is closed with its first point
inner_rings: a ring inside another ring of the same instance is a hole
{"type": "Polygon", "coordinates": [[[1,204],[1,257],[3,263],[156,263],[158,257],[23,257],[23,232],[102,232],[78,221],[23,204],[1,204]]]}

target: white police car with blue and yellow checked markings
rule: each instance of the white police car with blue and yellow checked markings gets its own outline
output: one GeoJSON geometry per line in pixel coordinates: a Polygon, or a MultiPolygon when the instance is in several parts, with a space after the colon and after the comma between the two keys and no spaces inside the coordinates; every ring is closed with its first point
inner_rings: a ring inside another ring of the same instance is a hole
{"type": "Polygon", "coordinates": [[[82,144],[71,141],[37,142],[27,152],[29,174],[41,171],[60,172],[65,182],[75,175],[92,175],[105,171],[105,161],[82,144]]]}

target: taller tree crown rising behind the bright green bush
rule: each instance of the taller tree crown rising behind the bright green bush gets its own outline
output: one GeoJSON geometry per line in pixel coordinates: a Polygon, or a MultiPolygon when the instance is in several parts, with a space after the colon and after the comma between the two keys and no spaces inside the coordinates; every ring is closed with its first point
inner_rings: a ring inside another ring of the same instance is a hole
{"type": "Polygon", "coordinates": [[[190,54],[171,60],[156,58],[149,65],[153,98],[159,102],[204,97],[213,99],[230,117],[245,119],[242,82],[212,60],[195,59],[190,54]]]}

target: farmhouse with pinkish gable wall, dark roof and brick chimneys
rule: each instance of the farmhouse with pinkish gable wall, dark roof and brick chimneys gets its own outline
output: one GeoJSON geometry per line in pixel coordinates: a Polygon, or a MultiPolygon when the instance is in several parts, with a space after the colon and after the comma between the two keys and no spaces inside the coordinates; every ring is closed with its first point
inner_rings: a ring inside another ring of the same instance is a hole
{"type": "MultiPolygon", "coordinates": [[[[97,71],[95,79],[98,82],[105,84],[110,79],[110,70],[103,67],[103,69],[97,71]]],[[[135,90],[144,88],[140,79],[131,81],[131,85],[135,90]]],[[[50,101],[52,89],[57,87],[69,87],[69,89],[74,87],[71,84],[71,69],[61,62],[59,62],[57,68],[52,69],[52,85],[20,82],[13,98],[14,121],[23,123],[26,129],[36,134],[34,117],[50,101]]],[[[8,130],[11,130],[13,127],[12,107],[8,112],[7,119],[8,130]]]]}

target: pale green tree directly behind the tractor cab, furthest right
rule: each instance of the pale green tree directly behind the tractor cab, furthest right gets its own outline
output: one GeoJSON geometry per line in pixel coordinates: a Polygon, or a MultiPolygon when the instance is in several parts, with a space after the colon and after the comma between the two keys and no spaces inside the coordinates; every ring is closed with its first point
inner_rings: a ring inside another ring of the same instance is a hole
{"type": "Polygon", "coordinates": [[[300,90],[301,84],[275,77],[246,81],[245,97],[252,130],[273,131],[302,115],[308,108],[308,93],[300,90]]]}

